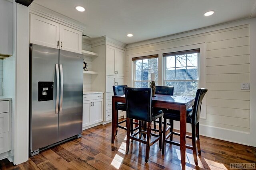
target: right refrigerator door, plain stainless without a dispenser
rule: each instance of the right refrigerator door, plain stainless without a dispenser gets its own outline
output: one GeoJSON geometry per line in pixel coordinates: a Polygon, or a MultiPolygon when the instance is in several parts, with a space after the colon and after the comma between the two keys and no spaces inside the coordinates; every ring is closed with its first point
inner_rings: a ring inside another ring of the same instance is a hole
{"type": "Polygon", "coordinates": [[[58,139],[82,133],[83,55],[60,50],[60,113],[58,139]]]}

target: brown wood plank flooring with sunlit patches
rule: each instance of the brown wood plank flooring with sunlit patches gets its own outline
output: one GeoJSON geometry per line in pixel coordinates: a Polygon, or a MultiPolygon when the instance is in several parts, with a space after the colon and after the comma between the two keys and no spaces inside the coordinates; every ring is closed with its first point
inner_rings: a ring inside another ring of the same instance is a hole
{"type": "MultiPolygon", "coordinates": [[[[136,141],[125,154],[126,131],[118,129],[115,143],[111,144],[111,123],[86,129],[82,137],[68,141],[40,154],[27,162],[14,166],[7,159],[0,160],[2,170],[180,170],[180,149],[166,145],[162,155],[158,143],[150,147],[150,157],[145,163],[144,144],[136,141]]],[[[178,137],[174,140],[178,141],[178,137]]],[[[189,139],[187,143],[191,145],[189,139]]],[[[230,163],[256,162],[255,148],[209,137],[200,137],[202,154],[198,166],[193,152],[187,149],[186,169],[226,170],[230,163]]]]}

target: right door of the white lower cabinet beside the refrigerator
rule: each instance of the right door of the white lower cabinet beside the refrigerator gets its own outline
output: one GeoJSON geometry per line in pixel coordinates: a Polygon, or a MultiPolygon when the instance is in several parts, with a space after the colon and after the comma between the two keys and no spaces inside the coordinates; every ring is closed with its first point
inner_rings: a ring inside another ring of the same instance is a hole
{"type": "Polygon", "coordinates": [[[92,101],[92,124],[103,121],[103,99],[92,101]]]}

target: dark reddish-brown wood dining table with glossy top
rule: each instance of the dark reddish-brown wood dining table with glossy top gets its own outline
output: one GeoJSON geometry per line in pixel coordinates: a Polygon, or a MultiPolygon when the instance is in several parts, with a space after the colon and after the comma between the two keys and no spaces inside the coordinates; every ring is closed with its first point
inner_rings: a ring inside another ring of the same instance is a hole
{"type": "MultiPolygon", "coordinates": [[[[152,107],[180,110],[180,155],[182,170],[186,168],[186,110],[194,105],[194,97],[188,96],[168,96],[156,94],[152,97],[152,107]]],[[[116,102],[125,103],[125,95],[112,96],[112,135],[111,143],[116,137],[117,111],[116,102]]]]}

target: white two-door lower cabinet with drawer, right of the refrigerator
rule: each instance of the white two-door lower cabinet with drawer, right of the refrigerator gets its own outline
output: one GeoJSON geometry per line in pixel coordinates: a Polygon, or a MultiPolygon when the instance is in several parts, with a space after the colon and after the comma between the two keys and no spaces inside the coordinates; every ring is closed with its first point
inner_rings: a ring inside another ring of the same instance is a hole
{"type": "Polygon", "coordinates": [[[83,128],[103,121],[103,93],[83,95],[83,128]],[[90,99],[90,100],[88,100],[90,99]]]}

